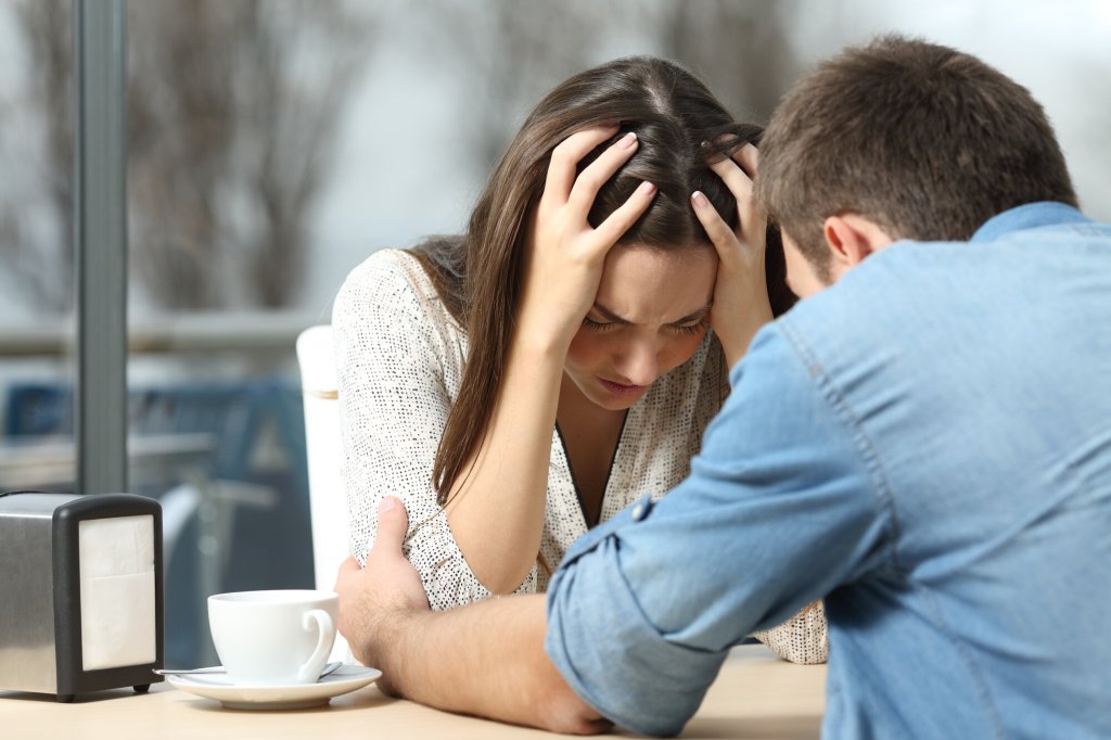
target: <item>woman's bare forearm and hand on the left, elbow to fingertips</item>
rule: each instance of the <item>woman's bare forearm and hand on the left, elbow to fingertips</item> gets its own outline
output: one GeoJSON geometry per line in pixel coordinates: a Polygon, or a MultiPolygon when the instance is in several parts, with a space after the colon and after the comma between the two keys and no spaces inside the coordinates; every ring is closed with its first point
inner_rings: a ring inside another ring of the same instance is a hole
{"type": "Polygon", "coordinates": [[[590,224],[598,189],[637,151],[637,136],[621,137],[581,172],[578,166],[617,132],[617,124],[585,129],[552,150],[543,193],[529,217],[516,329],[497,406],[450,491],[447,513],[456,542],[494,593],[513,590],[536,562],[567,351],[598,293],[607,253],[655,196],[644,182],[597,228],[590,224]]]}

